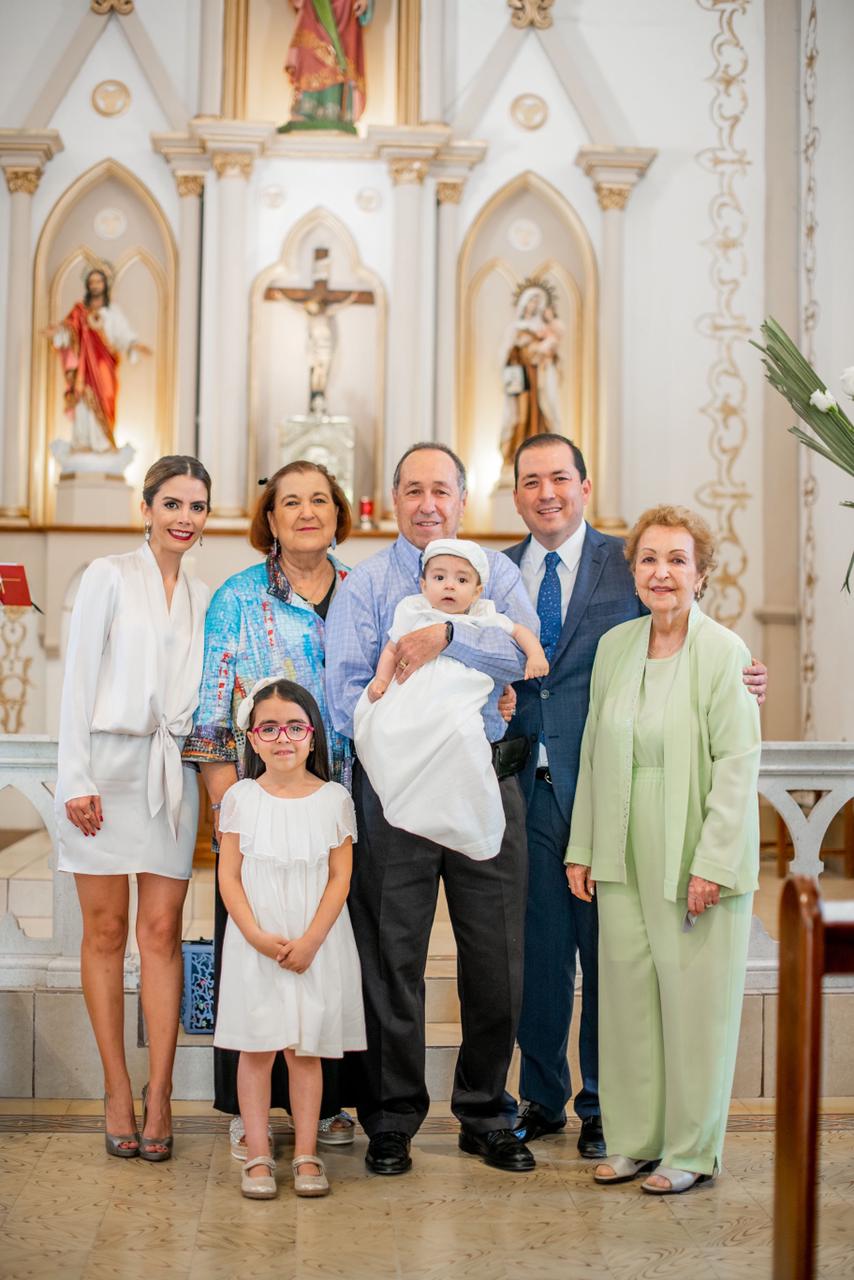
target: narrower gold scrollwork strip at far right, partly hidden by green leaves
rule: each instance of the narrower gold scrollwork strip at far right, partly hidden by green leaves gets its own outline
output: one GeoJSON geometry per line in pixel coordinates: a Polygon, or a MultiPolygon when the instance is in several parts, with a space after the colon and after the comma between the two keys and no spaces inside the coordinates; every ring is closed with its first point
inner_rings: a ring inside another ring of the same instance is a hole
{"type": "MultiPolygon", "coordinates": [[[[818,14],[816,0],[809,6],[804,36],[804,197],[803,197],[803,257],[804,257],[804,356],[816,364],[816,328],[818,301],[816,298],[816,232],[818,230],[816,193],[816,152],[819,143],[816,124],[816,64],[818,61],[818,14]]],[[[818,500],[818,481],[813,467],[812,449],[802,449],[803,485],[800,490],[803,547],[800,552],[803,581],[800,588],[800,684],[803,735],[816,733],[816,588],[818,585],[818,556],[816,545],[816,518],[813,508],[818,500]]]]}

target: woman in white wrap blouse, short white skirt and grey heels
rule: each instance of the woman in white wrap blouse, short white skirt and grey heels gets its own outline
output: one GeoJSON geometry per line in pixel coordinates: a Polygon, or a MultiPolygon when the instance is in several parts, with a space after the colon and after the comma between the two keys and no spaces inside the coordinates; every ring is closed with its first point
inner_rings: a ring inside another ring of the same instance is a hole
{"type": "Polygon", "coordinates": [[[165,457],[150,467],[145,543],[88,566],[65,658],[58,865],[77,881],[83,995],[104,1065],[106,1149],[120,1157],[172,1155],[182,910],[198,809],[181,748],[198,701],[207,608],[207,588],[186,573],[182,558],[209,509],[210,476],[197,458],[165,457]],[[124,1059],[131,873],[150,1062],[141,1135],[124,1059]]]}

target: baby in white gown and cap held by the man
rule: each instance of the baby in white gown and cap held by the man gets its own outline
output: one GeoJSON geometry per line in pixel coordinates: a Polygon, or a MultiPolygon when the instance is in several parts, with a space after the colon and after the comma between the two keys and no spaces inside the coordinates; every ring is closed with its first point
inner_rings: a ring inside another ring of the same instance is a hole
{"type": "Polygon", "coordinates": [[[545,676],[548,662],[533,631],[481,599],[489,561],[476,543],[435,539],[421,573],[421,594],[397,605],[376,675],[356,707],[356,754],[393,827],[476,860],[494,858],[504,809],[480,714],[493,681],[439,654],[398,684],[396,645],[437,622],[501,627],[528,658],[526,680],[545,676]]]}

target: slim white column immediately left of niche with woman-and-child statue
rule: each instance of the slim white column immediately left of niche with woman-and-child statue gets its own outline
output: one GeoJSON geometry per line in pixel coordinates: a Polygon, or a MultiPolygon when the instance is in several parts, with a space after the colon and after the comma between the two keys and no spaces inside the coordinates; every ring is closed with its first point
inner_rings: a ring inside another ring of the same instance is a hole
{"type": "Polygon", "coordinates": [[[457,236],[462,178],[439,179],[435,317],[435,438],[453,448],[456,440],[457,376],[457,236]]]}

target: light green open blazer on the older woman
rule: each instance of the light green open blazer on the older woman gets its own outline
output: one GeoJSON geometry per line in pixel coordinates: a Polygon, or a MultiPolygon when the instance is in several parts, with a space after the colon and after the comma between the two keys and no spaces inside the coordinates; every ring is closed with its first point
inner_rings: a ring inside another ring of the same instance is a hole
{"type": "MultiPolygon", "coordinates": [[[[567,863],[597,881],[626,879],[634,722],[649,617],[599,640],[581,742],[567,863]]],[[[691,876],[725,895],[758,887],[759,708],[743,668],[750,655],[732,631],[691,608],[665,712],[665,897],[688,895],[691,876]]]]}

